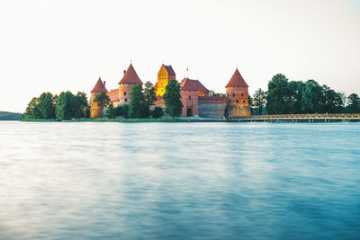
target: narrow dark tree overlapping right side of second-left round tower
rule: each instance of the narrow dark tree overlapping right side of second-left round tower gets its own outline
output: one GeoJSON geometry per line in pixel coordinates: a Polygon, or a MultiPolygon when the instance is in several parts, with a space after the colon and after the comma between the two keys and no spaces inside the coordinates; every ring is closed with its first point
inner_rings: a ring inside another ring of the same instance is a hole
{"type": "Polygon", "coordinates": [[[144,94],[142,93],[142,85],[134,84],[131,87],[129,104],[129,116],[131,119],[141,119],[143,117],[143,111],[145,111],[144,102],[145,99],[144,94]]]}

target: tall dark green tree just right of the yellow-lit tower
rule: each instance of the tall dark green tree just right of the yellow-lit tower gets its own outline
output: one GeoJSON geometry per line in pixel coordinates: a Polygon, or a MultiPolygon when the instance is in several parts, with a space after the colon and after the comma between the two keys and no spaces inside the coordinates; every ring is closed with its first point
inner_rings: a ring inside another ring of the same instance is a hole
{"type": "Polygon", "coordinates": [[[166,113],[172,118],[179,117],[183,110],[180,91],[180,84],[175,79],[170,80],[166,85],[166,92],[163,98],[165,100],[166,113]]]}

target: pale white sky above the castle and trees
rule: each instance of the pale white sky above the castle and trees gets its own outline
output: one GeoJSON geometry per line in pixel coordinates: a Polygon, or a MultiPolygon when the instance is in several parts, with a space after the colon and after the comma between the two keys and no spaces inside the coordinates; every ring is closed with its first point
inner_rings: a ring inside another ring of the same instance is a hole
{"type": "Polygon", "coordinates": [[[282,73],[360,94],[359,0],[29,0],[0,2],[0,111],[40,93],[110,91],[132,62],[225,93],[236,67],[249,93],[282,73]]]}

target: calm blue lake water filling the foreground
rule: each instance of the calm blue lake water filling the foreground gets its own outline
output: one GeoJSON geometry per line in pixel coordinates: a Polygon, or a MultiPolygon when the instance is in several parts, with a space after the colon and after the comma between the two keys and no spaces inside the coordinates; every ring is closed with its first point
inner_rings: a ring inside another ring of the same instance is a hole
{"type": "Polygon", "coordinates": [[[359,239],[360,124],[0,121],[1,239],[359,239]]]}

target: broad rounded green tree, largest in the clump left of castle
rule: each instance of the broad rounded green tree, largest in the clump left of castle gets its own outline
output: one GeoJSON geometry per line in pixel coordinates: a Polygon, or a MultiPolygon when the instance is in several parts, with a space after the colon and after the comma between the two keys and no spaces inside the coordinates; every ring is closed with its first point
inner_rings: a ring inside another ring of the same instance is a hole
{"type": "Polygon", "coordinates": [[[67,91],[58,95],[56,117],[58,120],[71,120],[78,117],[78,104],[73,93],[67,91]]]}

